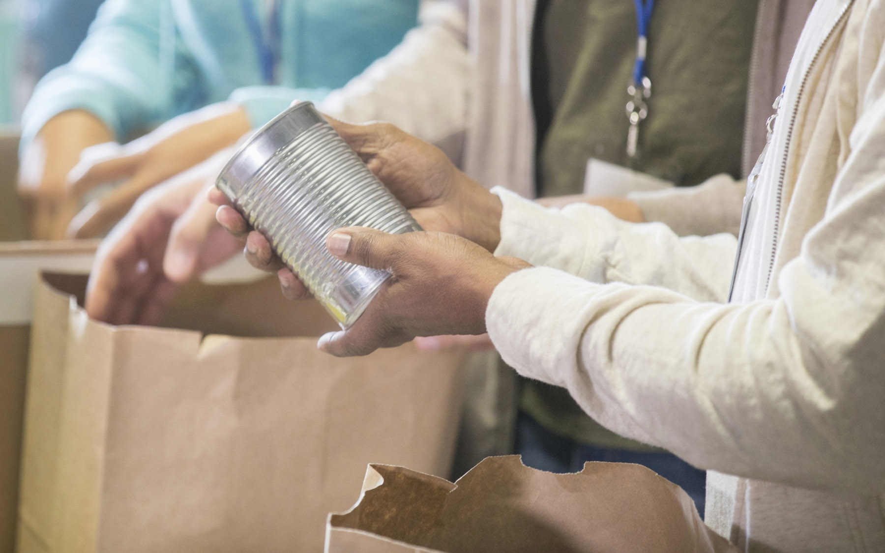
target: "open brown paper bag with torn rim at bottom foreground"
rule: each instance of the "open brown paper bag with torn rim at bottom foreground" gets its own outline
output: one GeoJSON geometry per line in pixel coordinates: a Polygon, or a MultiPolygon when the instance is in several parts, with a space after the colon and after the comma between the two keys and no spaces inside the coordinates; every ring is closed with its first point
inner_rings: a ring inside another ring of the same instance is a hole
{"type": "Polygon", "coordinates": [[[489,457],[452,484],[370,465],[363,495],[329,515],[327,553],[736,551],[681,488],[642,465],[553,474],[489,457]]]}

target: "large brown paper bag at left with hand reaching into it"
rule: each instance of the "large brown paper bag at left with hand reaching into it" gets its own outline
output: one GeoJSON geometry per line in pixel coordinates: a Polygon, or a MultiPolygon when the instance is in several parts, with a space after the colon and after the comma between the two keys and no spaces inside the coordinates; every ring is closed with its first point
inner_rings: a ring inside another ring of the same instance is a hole
{"type": "Polygon", "coordinates": [[[463,352],[327,356],[273,279],[183,290],[189,330],[112,327],[84,283],[35,296],[19,551],[321,551],[368,463],[449,470],[463,352]]]}

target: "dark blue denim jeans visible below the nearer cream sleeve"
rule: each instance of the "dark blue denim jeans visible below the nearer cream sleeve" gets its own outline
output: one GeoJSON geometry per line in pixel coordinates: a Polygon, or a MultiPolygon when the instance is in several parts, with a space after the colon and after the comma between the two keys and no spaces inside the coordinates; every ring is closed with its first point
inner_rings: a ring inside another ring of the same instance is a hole
{"type": "Polygon", "coordinates": [[[609,449],[575,442],[553,434],[522,411],[516,419],[516,452],[522,456],[523,465],[547,472],[581,472],[586,461],[647,466],[684,489],[704,518],[706,472],[672,453],[609,449]]]}

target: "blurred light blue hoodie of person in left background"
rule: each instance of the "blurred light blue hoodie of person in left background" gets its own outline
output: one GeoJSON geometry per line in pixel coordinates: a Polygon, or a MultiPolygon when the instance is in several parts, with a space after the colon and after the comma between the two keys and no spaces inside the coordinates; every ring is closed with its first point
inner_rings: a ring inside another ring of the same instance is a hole
{"type": "Polygon", "coordinates": [[[72,109],[95,113],[119,141],[228,97],[258,127],[350,81],[418,20],[419,0],[277,0],[274,49],[273,2],[106,0],[71,62],[37,85],[23,146],[72,109]],[[269,81],[262,52],[272,50],[269,81]]]}

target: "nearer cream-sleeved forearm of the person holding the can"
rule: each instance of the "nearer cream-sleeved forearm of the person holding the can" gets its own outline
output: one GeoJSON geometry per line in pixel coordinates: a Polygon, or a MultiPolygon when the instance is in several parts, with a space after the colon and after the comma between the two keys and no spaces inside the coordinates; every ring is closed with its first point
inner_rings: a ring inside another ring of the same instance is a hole
{"type": "Polygon", "coordinates": [[[885,481],[880,362],[852,359],[832,337],[818,349],[832,320],[851,334],[872,321],[830,302],[827,317],[794,307],[696,303],[530,269],[496,288],[486,321],[509,365],[568,388],[619,434],[705,469],[879,493],[868,486],[885,481]]]}

